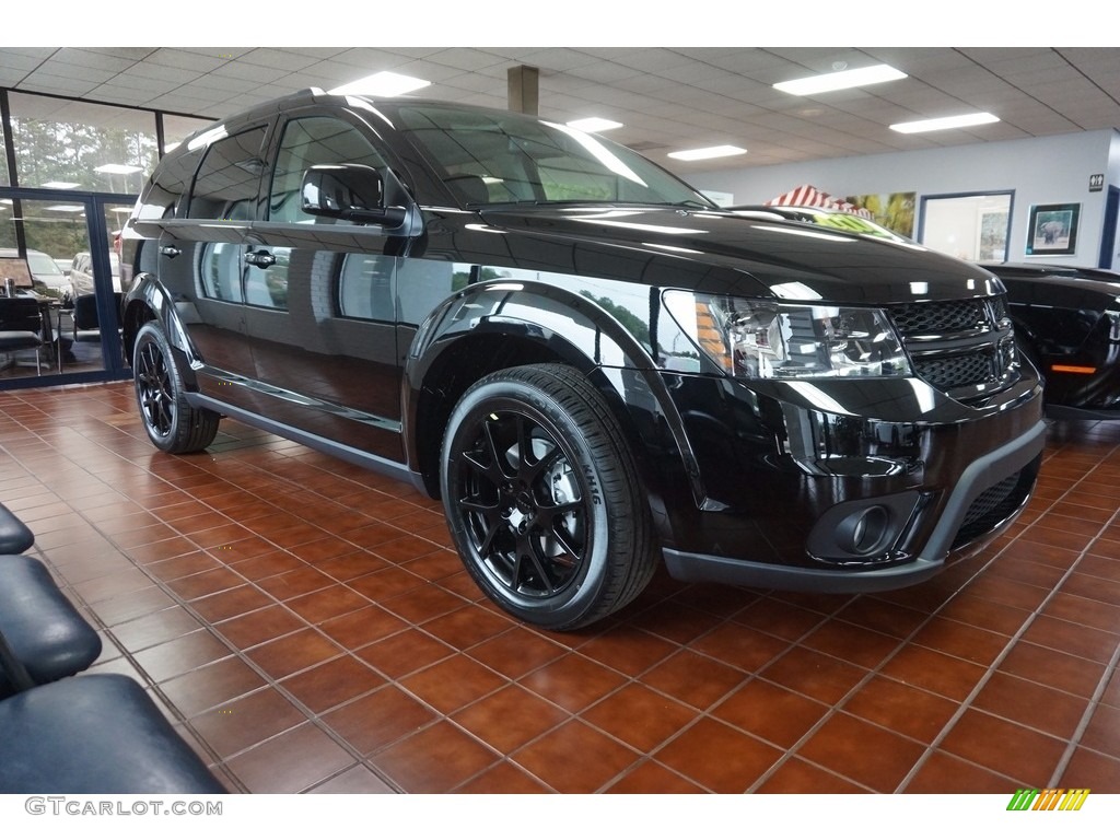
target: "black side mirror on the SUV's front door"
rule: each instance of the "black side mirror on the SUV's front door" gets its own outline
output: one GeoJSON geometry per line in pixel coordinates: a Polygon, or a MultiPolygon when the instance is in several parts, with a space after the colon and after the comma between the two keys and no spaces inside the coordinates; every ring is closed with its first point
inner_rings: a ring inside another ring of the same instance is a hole
{"type": "Polygon", "coordinates": [[[312,166],[299,193],[300,207],[311,216],[396,227],[408,214],[404,207],[385,206],[381,172],[360,164],[312,166]]]}

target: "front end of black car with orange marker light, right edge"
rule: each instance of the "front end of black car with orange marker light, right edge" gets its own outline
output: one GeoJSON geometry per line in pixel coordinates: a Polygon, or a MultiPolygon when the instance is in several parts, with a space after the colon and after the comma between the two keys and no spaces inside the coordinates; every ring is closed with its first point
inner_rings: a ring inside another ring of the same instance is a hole
{"type": "Polygon", "coordinates": [[[1120,419],[1120,273],[986,263],[1007,287],[1024,352],[1046,377],[1054,418],[1120,419]]]}

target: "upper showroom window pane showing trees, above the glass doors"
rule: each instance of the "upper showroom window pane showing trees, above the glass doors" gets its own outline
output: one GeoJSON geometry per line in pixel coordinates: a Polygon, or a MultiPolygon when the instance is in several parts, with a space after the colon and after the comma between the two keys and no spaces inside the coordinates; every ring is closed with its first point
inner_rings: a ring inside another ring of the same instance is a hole
{"type": "Polygon", "coordinates": [[[8,100],[21,187],[133,195],[156,166],[151,111],[16,92],[8,100]]]}

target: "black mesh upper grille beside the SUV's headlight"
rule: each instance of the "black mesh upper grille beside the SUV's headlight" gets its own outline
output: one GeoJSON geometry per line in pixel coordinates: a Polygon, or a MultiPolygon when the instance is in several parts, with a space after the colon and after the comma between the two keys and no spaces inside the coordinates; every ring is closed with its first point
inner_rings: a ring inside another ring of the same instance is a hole
{"type": "Polygon", "coordinates": [[[889,307],[914,372],[955,399],[1010,384],[1016,357],[1004,297],[933,300],[889,307]]]}

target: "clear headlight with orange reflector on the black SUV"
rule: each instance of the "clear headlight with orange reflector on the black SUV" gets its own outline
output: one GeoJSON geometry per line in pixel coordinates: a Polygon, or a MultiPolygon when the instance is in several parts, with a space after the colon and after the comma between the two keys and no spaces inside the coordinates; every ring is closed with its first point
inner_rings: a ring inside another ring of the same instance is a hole
{"type": "Polygon", "coordinates": [[[668,291],[665,308],[732,376],[909,376],[898,336],[880,309],[776,304],[668,291]]]}

